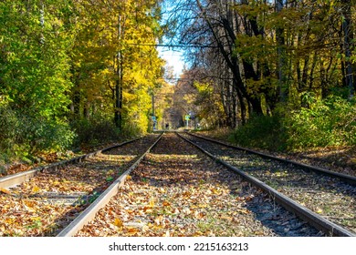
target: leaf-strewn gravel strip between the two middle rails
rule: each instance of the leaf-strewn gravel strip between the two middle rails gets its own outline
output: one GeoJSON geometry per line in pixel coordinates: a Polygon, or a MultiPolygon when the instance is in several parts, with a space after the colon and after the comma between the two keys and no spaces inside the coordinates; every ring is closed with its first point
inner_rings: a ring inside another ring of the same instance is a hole
{"type": "Polygon", "coordinates": [[[322,236],[175,134],[165,134],[77,236],[322,236]]]}

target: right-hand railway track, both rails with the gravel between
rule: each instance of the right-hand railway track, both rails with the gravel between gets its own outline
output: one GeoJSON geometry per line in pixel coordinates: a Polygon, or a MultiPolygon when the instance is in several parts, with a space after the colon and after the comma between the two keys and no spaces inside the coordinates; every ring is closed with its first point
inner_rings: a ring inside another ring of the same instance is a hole
{"type": "Polygon", "coordinates": [[[183,137],[206,150],[210,157],[273,194],[282,205],[320,230],[330,235],[355,235],[354,177],[236,148],[211,138],[187,133],[183,137]],[[293,205],[291,199],[298,204],[293,205]]]}

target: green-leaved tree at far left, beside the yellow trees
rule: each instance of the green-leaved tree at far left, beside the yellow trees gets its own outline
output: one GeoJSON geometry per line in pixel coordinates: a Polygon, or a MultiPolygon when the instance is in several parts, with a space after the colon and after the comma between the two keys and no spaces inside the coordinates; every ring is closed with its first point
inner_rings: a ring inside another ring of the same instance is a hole
{"type": "Polygon", "coordinates": [[[42,14],[39,1],[27,6],[5,1],[0,11],[4,14],[0,18],[4,38],[0,42],[1,93],[24,115],[46,119],[62,116],[71,83],[66,53],[69,39],[58,13],[48,7],[42,14]],[[43,25],[42,15],[46,20],[43,25]]]}

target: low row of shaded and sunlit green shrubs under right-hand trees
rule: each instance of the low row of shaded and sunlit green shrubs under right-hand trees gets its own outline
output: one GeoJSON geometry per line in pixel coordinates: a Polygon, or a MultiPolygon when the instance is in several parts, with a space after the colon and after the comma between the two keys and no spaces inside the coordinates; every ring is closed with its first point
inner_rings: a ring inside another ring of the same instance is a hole
{"type": "Polygon", "coordinates": [[[329,97],[309,103],[310,107],[289,116],[251,117],[230,139],[241,146],[271,150],[356,145],[355,102],[329,97]]]}

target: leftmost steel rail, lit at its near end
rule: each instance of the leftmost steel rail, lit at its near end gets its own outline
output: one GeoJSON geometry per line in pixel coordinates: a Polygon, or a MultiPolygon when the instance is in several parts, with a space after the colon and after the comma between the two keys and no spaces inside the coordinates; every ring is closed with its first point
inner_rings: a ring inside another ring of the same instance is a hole
{"type": "Polygon", "coordinates": [[[79,163],[79,162],[82,162],[83,160],[85,160],[87,158],[92,158],[92,157],[98,155],[101,152],[105,152],[105,151],[108,151],[108,150],[113,149],[113,148],[119,148],[121,146],[124,146],[126,144],[132,143],[132,142],[137,141],[139,139],[141,139],[141,138],[131,139],[129,141],[125,141],[125,142],[122,142],[120,144],[110,146],[108,148],[103,148],[103,149],[100,149],[100,150],[97,150],[97,151],[94,151],[94,152],[91,152],[91,153],[88,153],[88,154],[85,154],[85,155],[82,155],[82,156],[79,156],[79,157],[70,158],[70,159],[67,159],[67,160],[62,160],[62,161],[59,161],[59,162],[56,162],[56,163],[53,163],[53,164],[49,164],[47,166],[32,168],[32,169],[29,169],[29,170],[24,171],[24,172],[16,173],[14,175],[5,176],[3,178],[0,178],[0,188],[7,189],[7,188],[10,188],[10,187],[14,187],[14,186],[16,186],[16,185],[18,185],[18,184],[20,184],[20,183],[22,183],[22,182],[24,182],[24,181],[26,181],[28,179],[33,178],[34,176],[36,176],[39,172],[41,172],[43,170],[57,170],[58,168],[63,168],[63,167],[68,166],[70,164],[79,163]]]}

